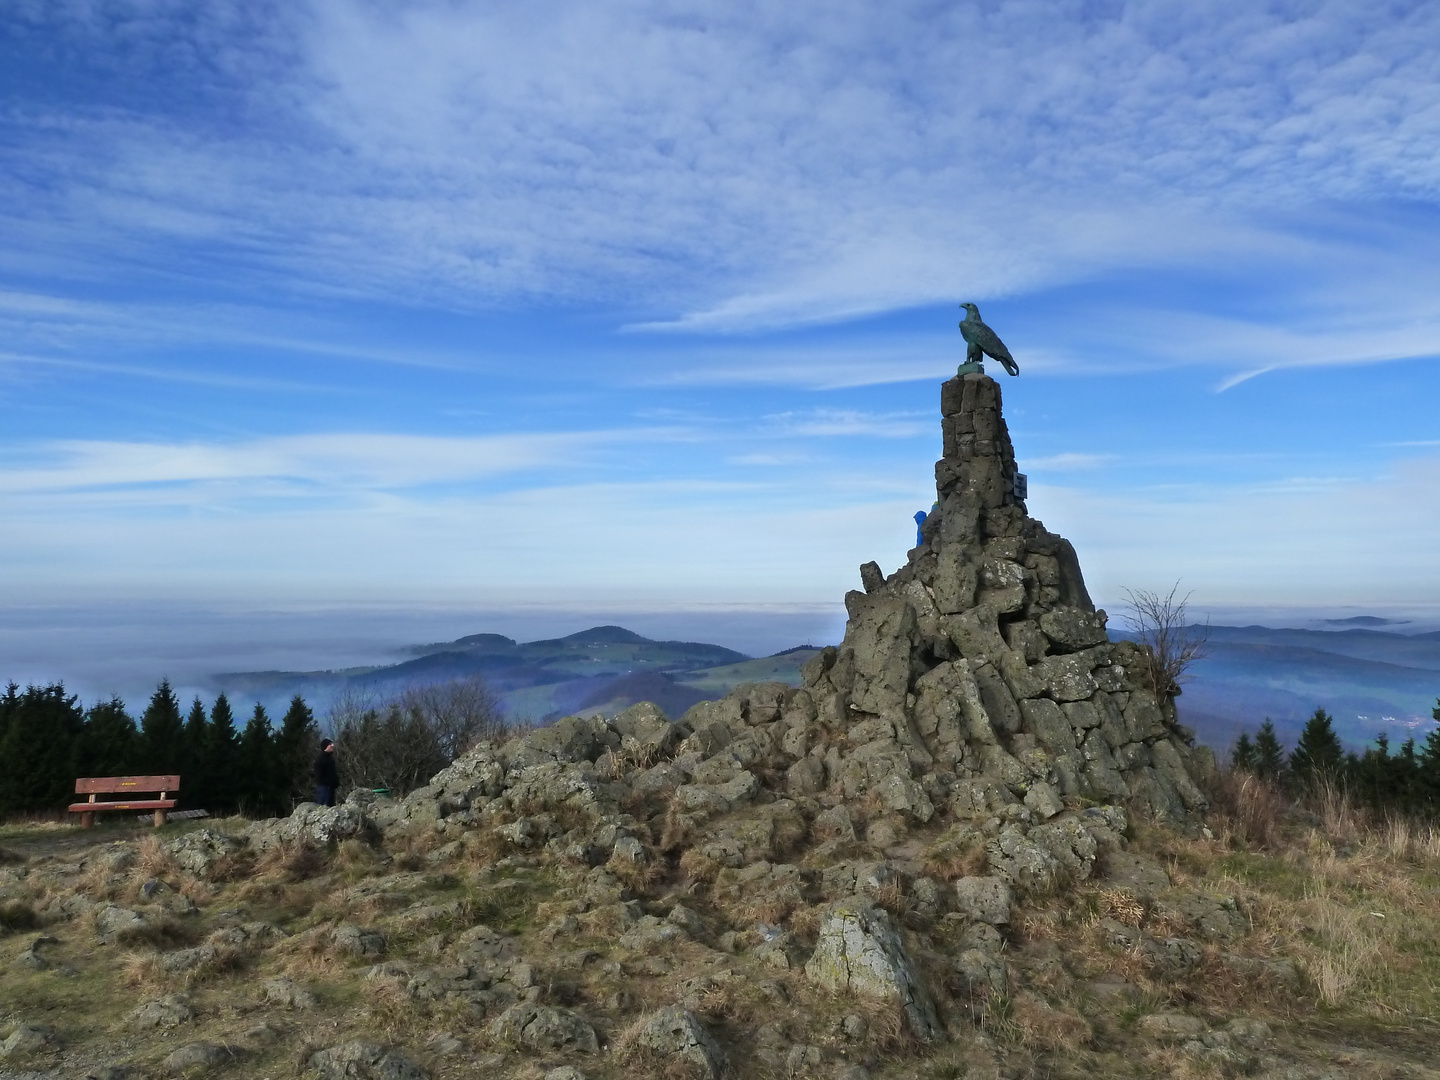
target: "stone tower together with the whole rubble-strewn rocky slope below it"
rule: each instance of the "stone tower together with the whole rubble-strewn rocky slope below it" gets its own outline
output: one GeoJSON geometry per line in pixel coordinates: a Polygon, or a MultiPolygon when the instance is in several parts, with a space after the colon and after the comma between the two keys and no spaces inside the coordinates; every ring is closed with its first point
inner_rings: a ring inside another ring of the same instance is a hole
{"type": "MultiPolygon", "coordinates": [[[[677,721],[649,704],[566,717],[477,746],[403,801],[356,792],[243,837],[206,829],[177,841],[176,858],[203,874],[242,844],[420,838],[435,865],[480,865],[477,888],[547,874],[533,939],[472,927],[433,939],[439,960],[373,972],[416,1001],[462,999],[494,1044],[520,1053],[583,1058],[613,1035],[622,1053],[711,1077],[808,1074],[834,1051],[796,1041],[809,1021],[782,1022],[786,1002],[855,999],[871,1011],[837,1014],[819,1041],[865,1038],[876,1004],[920,1043],[975,1037],[968,1002],[1012,989],[1014,904],[1097,865],[1161,897],[1164,868],[1126,852],[1129,815],[1197,832],[1197,778],[1214,762],[1178,724],[1174,687],[1156,693],[1149,651],[1107,638],[1070,543],[1027,516],[996,383],[960,376],[940,400],[937,510],[903,567],[861,567],[844,641],[805,665],[802,685],[743,685],[677,721]],[[544,972],[595,955],[582,946],[598,935],[616,972],[670,978],[683,956],[698,973],[677,973],[671,1004],[645,1015],[619,996],[589,1014],[544,1004],[544,972]],[[760,1012],[721,1037],[704,1002],[734,986],[775,1002],[773,1022],[760,1012]]],[[[436,917],[416,903],[396,927],[436,917]]],[[[1174,920],[1205,933],[1238,919],[1187,903],[1174,920]]],[[[1188,942],[1116,926],[1126,948],[1198,962],[1188,942]]],[[[336,948],[341,930],[357,927],[337,929],[336,948]]],[[[387,932],[360,929],[344,948],[380,955],[387,932]]],[[[353,1074],[318,1058],[324,1076],[353,1074]]]]}

